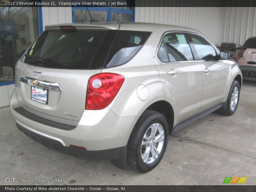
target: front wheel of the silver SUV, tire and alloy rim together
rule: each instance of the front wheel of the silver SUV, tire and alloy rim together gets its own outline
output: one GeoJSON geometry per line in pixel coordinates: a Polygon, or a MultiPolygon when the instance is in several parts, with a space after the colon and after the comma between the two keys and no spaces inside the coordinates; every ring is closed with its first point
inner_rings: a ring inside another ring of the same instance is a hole
{"type": "Polygon", "coordinates": [[[240,97],[240,85],[234,80],[228,93],[226,105],[220,109],[220,113],[226,116],[231,116],[236,112],[240,97]]]}

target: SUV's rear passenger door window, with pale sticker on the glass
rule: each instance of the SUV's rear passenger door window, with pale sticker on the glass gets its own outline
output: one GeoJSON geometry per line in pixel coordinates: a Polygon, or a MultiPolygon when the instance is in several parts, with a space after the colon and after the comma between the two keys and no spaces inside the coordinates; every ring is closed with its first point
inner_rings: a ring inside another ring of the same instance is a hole
{"type": "Polygon", "coordinates": [[[163,42],[170,62],[194,60],[184,33],[167,33],[163,42]]]}

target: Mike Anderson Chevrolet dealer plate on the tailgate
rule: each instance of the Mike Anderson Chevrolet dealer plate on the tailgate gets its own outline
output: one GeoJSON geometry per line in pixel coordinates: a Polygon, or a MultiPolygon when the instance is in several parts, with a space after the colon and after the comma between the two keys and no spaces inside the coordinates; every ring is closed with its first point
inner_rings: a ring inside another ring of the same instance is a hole
{"type": "Polygon", "coordinates": [[[48,89],[43,89],[41,87],[31,86],[31,100],[48,104],[48,89]]]}

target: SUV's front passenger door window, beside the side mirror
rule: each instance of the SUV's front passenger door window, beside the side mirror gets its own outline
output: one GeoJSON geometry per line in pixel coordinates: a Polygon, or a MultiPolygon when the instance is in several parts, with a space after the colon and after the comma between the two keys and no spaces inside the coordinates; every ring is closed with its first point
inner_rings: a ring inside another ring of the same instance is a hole
{"type": "Polygon", "coordinates": [[[195,45],[198,60],[212,60],[217,55],[215,49],[204,37],[196,34],[189,35],[195,45]]]}

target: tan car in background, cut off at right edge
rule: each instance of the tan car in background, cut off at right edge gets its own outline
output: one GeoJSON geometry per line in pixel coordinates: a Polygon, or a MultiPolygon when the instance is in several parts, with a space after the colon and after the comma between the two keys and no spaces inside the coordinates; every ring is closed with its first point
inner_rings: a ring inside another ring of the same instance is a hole
{"type": "Polygon", "coordinates": [[[231,59],[238,63],[244,80],[256,81],[256,36],[247,39],[231,59]]]}

